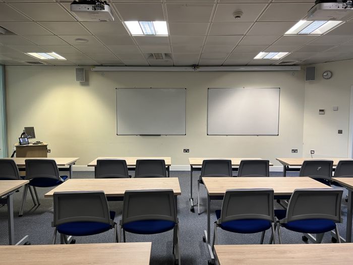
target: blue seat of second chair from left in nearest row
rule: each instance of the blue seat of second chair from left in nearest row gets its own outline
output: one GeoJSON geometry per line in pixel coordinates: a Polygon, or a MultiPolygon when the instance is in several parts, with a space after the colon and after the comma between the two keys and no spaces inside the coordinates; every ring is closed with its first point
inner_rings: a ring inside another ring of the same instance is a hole
{"type": "Polygon", "coordinates": [[[123,228],[135,234],[150,235],[169,231],[175,226],[174,222],[164,220],[146,220],[127,223],[123,228]]]}

